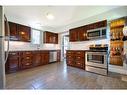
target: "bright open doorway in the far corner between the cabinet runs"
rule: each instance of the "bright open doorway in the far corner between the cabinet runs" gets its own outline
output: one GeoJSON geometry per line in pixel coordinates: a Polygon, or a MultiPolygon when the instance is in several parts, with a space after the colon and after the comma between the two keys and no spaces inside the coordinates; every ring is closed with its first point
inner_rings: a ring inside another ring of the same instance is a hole
{"type": "Polygon", "coordinates": [[[62,56],[63,56],[63,59],[66,59],[66,50],[68,50],[70,47],[69,45],[69,35],[64,35],[63,36],[63,42],[62,42],[62,56]]]}

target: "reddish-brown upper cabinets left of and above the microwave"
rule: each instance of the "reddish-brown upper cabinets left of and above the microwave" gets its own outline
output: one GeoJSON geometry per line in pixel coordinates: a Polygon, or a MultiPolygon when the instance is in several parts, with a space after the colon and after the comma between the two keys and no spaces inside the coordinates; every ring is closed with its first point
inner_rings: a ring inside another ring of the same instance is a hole
{"type": "Polygon", "coordinates": [[[107,26],[107,21],[103,20],[100,22],[92,23],[89,25],[84,25],[78,28],[70,29],[69,30],[69,41],[87,41],[87,30],[97,29],[107,26]]]}

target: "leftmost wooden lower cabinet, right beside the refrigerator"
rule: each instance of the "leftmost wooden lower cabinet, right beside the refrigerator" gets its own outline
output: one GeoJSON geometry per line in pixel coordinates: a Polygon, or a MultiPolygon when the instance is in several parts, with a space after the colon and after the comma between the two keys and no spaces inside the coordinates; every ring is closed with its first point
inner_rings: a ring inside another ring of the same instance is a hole
{"type": "Polygon", "coordinates": [[[19,70],[20,56],[19,52],[9,52],[7,62],[5,64],[6,73],[12,73],[19,70]]]}

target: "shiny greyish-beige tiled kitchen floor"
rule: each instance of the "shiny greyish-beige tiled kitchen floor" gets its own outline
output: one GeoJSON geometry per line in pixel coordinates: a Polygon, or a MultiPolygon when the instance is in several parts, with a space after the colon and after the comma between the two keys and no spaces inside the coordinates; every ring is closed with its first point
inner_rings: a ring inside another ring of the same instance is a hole
{"type": "Polygon", "coordinates": [[[7,89],[127,89],[123,75],[97,75],[53,63],[6,75],[7,89]]]}

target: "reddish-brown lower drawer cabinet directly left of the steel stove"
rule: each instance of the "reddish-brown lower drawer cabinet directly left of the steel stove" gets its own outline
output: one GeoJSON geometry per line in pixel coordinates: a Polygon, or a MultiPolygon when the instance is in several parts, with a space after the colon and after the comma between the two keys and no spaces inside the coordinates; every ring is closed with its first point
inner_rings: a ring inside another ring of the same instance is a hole
{"type": "Polygon", "coordinates": [[[85,51],[67,50],[66,57],[67,65],[85,69],[85,51]]]}

